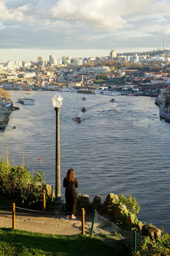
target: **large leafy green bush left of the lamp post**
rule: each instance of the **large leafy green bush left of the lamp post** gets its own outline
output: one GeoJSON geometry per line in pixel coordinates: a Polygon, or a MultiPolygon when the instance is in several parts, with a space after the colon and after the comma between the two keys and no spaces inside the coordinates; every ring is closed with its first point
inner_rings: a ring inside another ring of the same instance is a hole
{"type": "Polygon", "coordinates": [[[45,187],[44,172],[38,171],[33,177],[27,167],[10,166],[4,158],[0,162],[1,195],[16,203],[32,205],[42,200],[45,187]]]}

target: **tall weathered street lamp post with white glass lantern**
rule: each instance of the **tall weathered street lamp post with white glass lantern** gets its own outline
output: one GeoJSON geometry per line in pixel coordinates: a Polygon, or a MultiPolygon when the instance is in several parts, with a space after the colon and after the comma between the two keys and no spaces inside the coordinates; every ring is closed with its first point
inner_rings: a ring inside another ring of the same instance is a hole
{"type": "Polygon", "coordinates": [[[54,210],[63,208],[61,200],[61,185],[60,185],[60,110],[63,103],[63,98],[59,93],[56,93],[52,98],[53,107],[56,112],[56,150],[55,150],[55,200],[53,202],[54,210]]]}

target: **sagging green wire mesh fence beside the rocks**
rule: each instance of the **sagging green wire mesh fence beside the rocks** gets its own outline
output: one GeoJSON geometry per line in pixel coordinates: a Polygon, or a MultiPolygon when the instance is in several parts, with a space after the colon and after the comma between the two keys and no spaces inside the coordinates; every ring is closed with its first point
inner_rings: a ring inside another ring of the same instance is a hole
{"type": "Polygon", "coordinates": [[[115,223],[98,214],[97,211],[94,212],[90,235],[104,237],[109,244],[112,244],[118,250],[138,251],[141,256],[151,255],[151,244],[148,243],[145,249],[142,248],[145,237],[136,232],[133,233],[119,228],[115,223]]]}

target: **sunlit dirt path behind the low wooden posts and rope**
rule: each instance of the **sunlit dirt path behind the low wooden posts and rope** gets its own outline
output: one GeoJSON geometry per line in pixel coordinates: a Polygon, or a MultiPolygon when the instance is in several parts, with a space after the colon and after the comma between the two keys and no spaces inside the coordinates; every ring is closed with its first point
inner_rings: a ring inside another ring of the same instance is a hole
{"type": "MultiPolygon", "coordinates": [[[[90,233],[92,215],[85,215],[85,233],[90,233]]],[[[12,212],[0,210],[0,227],[12,228],[12,212]]],[[[51,213],[16,213],[15,228],[38,233],[73,235],[82,233],[81,215],[66,219],[51,213]]]]}

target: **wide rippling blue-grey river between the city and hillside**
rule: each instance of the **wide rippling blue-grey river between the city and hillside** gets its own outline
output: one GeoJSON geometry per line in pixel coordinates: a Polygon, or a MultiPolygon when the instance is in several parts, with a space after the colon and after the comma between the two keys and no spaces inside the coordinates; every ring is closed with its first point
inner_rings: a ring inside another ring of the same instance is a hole
{"type": "MultiPolygon", "coordinates": [[[[46,183],[55,185],[55,110],[52,91],[31,91],[36,105],[22,105],[18,98],[26,91],[9,91],[14,106],[0,132],[0,153],[32,173],[45,172],[46,183]],[[16,126],[16,129],[13,129],[16,126]],[[40,156],[40,161],[38,160],[40,156]]],[[[60,92],[64,98],[60,111],[61,197],[64,176],[74,168],[79,180],[78,192],[95,195],[103,201],[108,193],[129,196],[141,206],[138,219],[156,227],[169,227],[170,123],[159,118],[159,108],[151,97],[85,95],[60,92]],[[86,97],[86,101],[82,97],[86,97]],[[86,112],[82,113],[82,107],[86,112]],[[82,123],[75,117],[81,116],[82,123]],[[154,120],[153,120],[154,119],[154,120]]]]}

